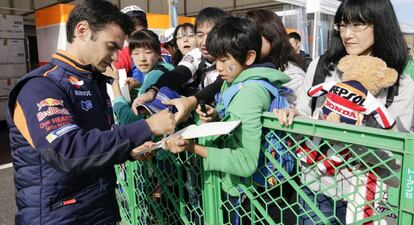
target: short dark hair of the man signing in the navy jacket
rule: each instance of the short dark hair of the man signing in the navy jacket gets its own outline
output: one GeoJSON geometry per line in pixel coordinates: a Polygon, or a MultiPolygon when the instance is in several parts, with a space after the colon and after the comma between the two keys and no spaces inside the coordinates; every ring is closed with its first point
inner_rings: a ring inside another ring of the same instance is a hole
{"type": "MultiPolygon", "coordinates": [[[[133,30],[132,21],[119,8],[108,1],[86,0],[72,10],[66,23],[66,39],[69,43],[75,38],[76,25],[87,21],[93,33],[102,30],[106,25],[115,23],[121,27],[125,34],[133,30]]],[[[94,37],[92,36],[92,39],[94,37]]]]}

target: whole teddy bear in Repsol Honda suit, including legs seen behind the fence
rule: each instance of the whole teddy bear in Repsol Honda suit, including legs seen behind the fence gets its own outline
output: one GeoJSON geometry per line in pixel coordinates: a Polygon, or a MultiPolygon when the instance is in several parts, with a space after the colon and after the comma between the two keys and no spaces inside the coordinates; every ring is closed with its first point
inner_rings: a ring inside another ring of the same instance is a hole
{"type": "MultiPolygon", "coordinates": [[[[309,97],[326,95],[320,118],[327,121],[361,126],[366,117],[373,116],[384,129],[395,124],[391,113],[374,96],[382,89],[392,86],[398,78],[396,70],[388,68],[380,58],[373,56],[347,55],[338,63],[342,72],[340,82],[325,82],[311,87],[309,97]]],[[[338,167],[351,157],[343,144],[331,142],[334,149],[313,150],[320,146],[321,139],[313,137],[298,149],[297,154],[308,165],[317,164],[318,169],[335,175],[338,167]],[[335,152],[335,149],[340,149],[335,152]]]]}

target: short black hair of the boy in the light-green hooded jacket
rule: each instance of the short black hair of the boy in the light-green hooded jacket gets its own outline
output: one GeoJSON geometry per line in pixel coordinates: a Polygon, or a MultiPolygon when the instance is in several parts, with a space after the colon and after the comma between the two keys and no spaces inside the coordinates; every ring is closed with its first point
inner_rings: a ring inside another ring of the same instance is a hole
{"type": "Polygon", "coordinates": [[[230,54],[242,65],[246,62],[247,52],[254,50],[257,63],[260,61],[262,35],[251,20],[229,16],[211,29],[206,45],[211,56],[219,58],[230,54]]]}

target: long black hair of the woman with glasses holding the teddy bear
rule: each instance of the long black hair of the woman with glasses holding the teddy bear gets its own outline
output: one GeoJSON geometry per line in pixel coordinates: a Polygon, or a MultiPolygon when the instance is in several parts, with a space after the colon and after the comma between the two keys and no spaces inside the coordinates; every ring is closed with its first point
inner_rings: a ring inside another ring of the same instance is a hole
{"type": "MultiPolygon", "coordinates": [[[[335,23],[362,22],[373,25],[372,55],[402,74],[408,61],[407,45],[389,0],[344,0],[335,14],[335,23]]],[[[333,30],[331,42],[321,57],[321,72],[327,76],[338,61],[347,55],[338,31],[333,30]]]]}

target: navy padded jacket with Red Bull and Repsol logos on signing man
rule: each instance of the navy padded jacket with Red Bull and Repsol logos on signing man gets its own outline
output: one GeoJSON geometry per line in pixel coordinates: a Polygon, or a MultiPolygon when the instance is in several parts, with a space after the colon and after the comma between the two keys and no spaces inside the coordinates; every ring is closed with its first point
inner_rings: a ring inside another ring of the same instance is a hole
{"type": "Polygon", "coordinates": [[[106,79],[60,51],[11,91],[7,122],[16,224],[114,224],[113,165],[151,136],[141,120],[113,124],[106,79]]]}

